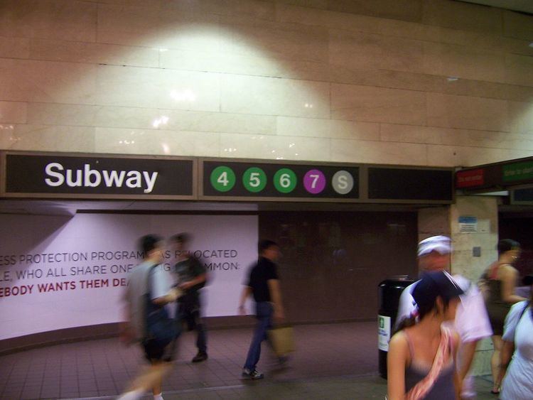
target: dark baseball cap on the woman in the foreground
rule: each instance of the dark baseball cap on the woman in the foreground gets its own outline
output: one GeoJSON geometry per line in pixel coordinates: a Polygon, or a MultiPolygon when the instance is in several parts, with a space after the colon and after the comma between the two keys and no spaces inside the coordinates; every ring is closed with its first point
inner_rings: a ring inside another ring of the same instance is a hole
{"type": "Polygon", "coordinates": [[[463,290],[448,272],[432,271],[426,272],[422,279],[416,283],[413,298],[419,308],[424,308],[424,305],[434,304],[438,296],[449,300],[463,293],[463,290]]]}

